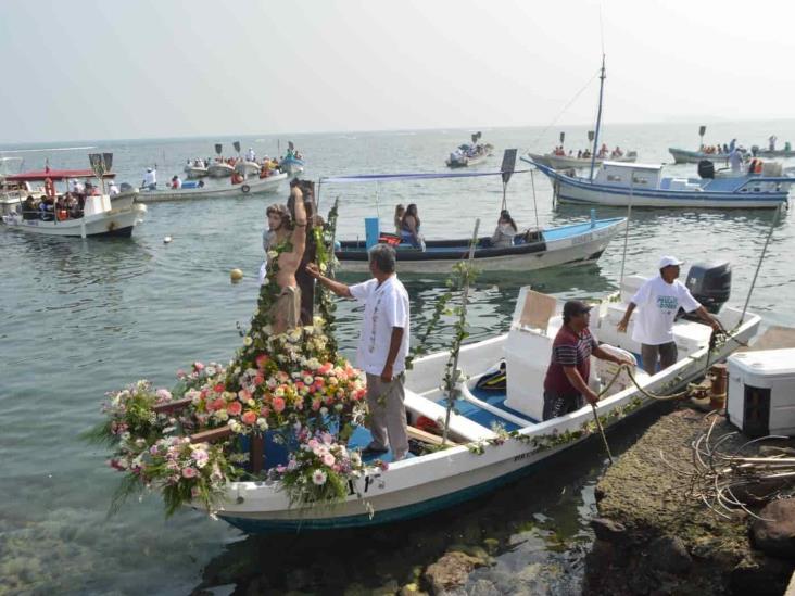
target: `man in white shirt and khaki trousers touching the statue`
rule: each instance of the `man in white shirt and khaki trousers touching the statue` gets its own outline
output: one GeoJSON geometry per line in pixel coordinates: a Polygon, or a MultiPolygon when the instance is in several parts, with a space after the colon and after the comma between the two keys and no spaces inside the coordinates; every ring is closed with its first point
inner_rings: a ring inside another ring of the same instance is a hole
{"type": "Polygon", "coordinates": [[[408,293],[395,275],[396,255],[387,244],[369,250],[373,279],[345,286],[323,276],[310,263],[306,271],[338,296],[364,303],[364,320],[358,337],[356,366],[367,375],[367,405],[373,442],[364,453],[386,453],[403,459],[408,453],[404,370],[408,354],[408,293]]]}

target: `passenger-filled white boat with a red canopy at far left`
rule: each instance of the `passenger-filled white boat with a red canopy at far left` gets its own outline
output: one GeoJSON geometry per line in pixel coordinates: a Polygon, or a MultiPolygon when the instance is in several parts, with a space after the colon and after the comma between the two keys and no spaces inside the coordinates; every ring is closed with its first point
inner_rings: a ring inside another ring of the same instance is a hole
{"type": "MultiPolygon", "coordinates": [[[[31,190],[25,196],[41,199],[48,193],[48,189],[42,187],[33,190],[30,182],[47,185],[48,180],[51,180],[54,185],[94,176],[96,174],[91,169],[43,169],[9,176],[7,181],[28,185],[26,188],[31,190]]],[[[114,176],[113,173],[106,173],[103,178],[114,176]]],[[[54,196],[54,187],[50,192],[54,196]]],[[[7,213],[2,215],[2,223],[12,229],[48,236],[129,237],[132,228],[143,220],[147,212],[146,205],[135,202],[136,194],[136,190],[130,190],[113,198],[108,194],[88,195],[81,215],[77,217],[73,217],[65,210],[60,213],[26,211],[20,203],[13,208],[7,207],[7,213]]]]}

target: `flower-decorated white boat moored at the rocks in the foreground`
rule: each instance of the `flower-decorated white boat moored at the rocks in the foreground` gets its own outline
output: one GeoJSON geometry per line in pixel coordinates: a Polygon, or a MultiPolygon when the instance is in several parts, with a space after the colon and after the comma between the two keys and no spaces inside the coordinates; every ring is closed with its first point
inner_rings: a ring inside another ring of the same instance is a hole
{"type": "MultiPolygon", "coordinates": [[[[627,333],[617,324],[641,281],[627,278],[620,293],[592,310],[590,324],[616,346],[614,354],[631,362],[640,352],[631,340],[634,319],[627,333]]],[[[450,352],[413,362],[405,408],[409,436],[418,443],[400,461],[362,455],[370,441],[358,418],[364,386],[344,359],[324,362],[333,352],[329,318],[283,337],[252,325],[242,356],[228,369],[197,363],[174,391],[140,381],[113,394],[94,436],[115,446],[111,465],[125,473],[121,496],[143,486],[160,490],[168,512],[192,506],[249,533],[402,521],[493,491],[595,441],[597,429],[609,431],[655,396],[685,389],[758,329],[756,315],[712,307],[729,329],[721,339],[705,325],[679,319],[673,366],[649,376],[594,359],[588,382],[600,394],[597,404],[542,420],[544,375],[563,320],[554,297],[523,288],[507,333],[465,346],[454,341],[450,352]],[[495,370],[504,375],[502,385],[481,383],[495,370]],[[263,471],[253,471],[260,465],[263,471]]]]}

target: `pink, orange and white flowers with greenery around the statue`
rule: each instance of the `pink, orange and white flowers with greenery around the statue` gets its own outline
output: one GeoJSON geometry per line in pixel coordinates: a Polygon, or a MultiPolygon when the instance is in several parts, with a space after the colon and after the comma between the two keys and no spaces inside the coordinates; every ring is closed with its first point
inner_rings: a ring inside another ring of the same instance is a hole
{"type": "MultiPolygon", "coordinates": [[[[337,205],[318,244],[318,265],[333,258],[337,205]]],[[[316,237],[317,239],[317,237],[316,237]]],[[[179,371],[173,391],[138,381],[109,394],[106,419],[85,434],[113,447],[109,465],[125,474],[112,510],[131,493],[159,490],[166,515],[201,504],[213,510],[232,480],[243,478],[248,454],[243,435],[270,432],[290,451],[287,465],[262,478],[278,480],[292,505],[333,505],[349,495],[351,481],[365,472],[356,452],[346,448],[352,426],[365,410],[362,375],[338,354],[332,337],[333,304],[320,293],[320,317],[274,335],[273,307],[278,257],[292,250],[282,242],[268,252],[270,267],[243,345],[227,366],[194,363],[179,371]],[[202,429],[228,427],[213,444],[191,441],[202,429]]],[[[355,484],[355,483],[354,483],[355,484]]]]}

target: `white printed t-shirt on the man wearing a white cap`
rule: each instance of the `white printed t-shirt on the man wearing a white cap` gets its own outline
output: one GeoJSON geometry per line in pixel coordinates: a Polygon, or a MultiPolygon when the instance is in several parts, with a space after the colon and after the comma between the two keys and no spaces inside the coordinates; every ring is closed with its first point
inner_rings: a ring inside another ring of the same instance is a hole
{"type": "Polygon", "coordinates": [[[673,319],[679,308],[691,313],[701,304],[687,287],[679,281],[667,283],[661,276],[646,281],[632,296],[638,306],[632,339],[646,345],[660,345],[673,341],[673,319]]]}

